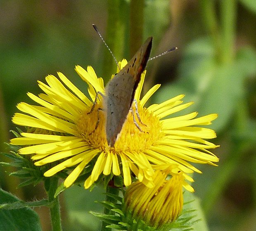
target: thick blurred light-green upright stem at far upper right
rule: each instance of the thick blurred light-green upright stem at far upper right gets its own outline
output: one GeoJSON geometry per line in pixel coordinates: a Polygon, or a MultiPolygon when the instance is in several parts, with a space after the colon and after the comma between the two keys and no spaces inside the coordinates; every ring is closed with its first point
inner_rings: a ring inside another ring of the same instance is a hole
{"type": "Polygon", "coordinates": [[[220,1],[220,17],[222,21],[222,61],[229,63],[234,57],[236,1],[220,1]]]}

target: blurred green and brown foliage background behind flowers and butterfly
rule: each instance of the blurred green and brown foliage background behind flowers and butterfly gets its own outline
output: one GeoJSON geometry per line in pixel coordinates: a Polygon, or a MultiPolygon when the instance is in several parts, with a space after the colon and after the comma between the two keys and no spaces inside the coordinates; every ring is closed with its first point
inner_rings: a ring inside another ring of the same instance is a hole
{"type": "MultiPolygon", "coordinates": [[[[210,231],[256,230],[256,1],[255,0],[87,0],[0,2],[0,151],[11,137],[16,104],[32,103],[26,92],[40,93],[36,81],[64,73],[83,92],[87,86],[74,71],[91,65],[107,81],[114,62],[96,24],[118,60],[129,59],[153,36],[145,91],[162,87],[152,102],[178,94],[195,104],[182,113],[218,113],[211,128],[219,167],[197,166],[195,195],[201,200],[210,231]]],[[[151,103],[152,103],[151,102],[151,103]]],[[[2,159],[0,161],[3,161],[2,159]]],[[[6,160],[5,160],[6,161],[6,160]]],[[[0,169],[0,186],[24,200],[45,197],[43,187],[16,189],[19,183],[0,169]]],[[[88,214],[100,211],[103,189],[79,187],[61,196],[64,230],[99,230],[88,214]]],[[[37,208],[44,231],[50,230],[47,208],[37,208]]]]}

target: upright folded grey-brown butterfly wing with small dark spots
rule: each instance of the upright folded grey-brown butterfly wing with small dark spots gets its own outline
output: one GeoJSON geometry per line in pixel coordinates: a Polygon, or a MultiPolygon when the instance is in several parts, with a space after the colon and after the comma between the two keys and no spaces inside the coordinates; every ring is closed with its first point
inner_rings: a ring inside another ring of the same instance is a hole
{"type": "Polygon", "coordinates": [[[106,86],[104,111],[107,114],[106,135],[110,147],[114,146],[133,103],[135,90],[147,65],[151,47],[152,37],[149,37],[128,64],[106,86]]]}

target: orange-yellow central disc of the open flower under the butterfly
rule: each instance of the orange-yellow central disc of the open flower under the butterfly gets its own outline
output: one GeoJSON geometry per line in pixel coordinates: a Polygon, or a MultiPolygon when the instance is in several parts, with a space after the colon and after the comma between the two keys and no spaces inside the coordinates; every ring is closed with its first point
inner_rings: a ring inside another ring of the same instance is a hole
{"type": "Polygon", "coordinates": [[[137,118],[133,107],[133,113],[128,113],[114,147],[110,148],[106,139],[105,113],[100,110],[102,108],[101,105],[101,103],[96,104],[91,112],[89,110],[84,111],[76,123],[78,136],[95,148],[100,148],[102,151],[112,149],[111,151],[113,152],[144,151],[164,136],[164,133],[161,132],[160,121],[156,115],[138,104],[141,122],[137,118]],[[140,129],[134,123],[133,115],[140,129]]]}

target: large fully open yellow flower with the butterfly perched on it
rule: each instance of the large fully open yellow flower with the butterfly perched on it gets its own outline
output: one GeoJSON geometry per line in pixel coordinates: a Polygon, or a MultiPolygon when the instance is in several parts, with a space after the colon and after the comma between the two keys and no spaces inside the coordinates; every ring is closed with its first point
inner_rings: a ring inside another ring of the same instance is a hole
{"type": "MultiPolygon", "coordinates": [[[[127,63],[123,60],[121,68],[127,63]]],[[[143,184],[153,187],[154,168],[163,164],[176,164],[185,173],[200,172],[192,163],[214,165],[218,158],[208,151],[217,146],[205,141],[216,137],[213,130],[195,125],[209,125],[217,115],[211,114],[195,118],[197,113],[190,113],[170,119],[167,115],[181,111],[192,103],[182,104],[184,95],[169,99],[162,104],[144,105],[160,87],[155,85],[140,100],[145,72],[135,92],[138,112],[143,124],[142,131],[128,114],[124,126],[113,148],[107,145],[105,134],[105,114],[102,108],[102,97],[97,100],[91,111],[97,92],[104,94],[102,78],[97,78],[95,71],[88,66],[85,71],[76,66],[76,72],[88,84],[91,99],[83,94],[62,73],[58,78],[48,75],[47,84],[38,81],[45,92],[38,96],[28,96],[40,106],[21,102],[17,108],[23,113],[15,113],[12,121],[17,125],[28,127],[23,137],[14,138],[11,144],[25,145],[19,149],[20,154],[33,154],[35,165],[49,165],[44,175],[50,177],[62,170],[69,173],[64,186],[71,186],[86,167],[93,166],[90,177],[85,181],[89,188],[101,174],[123,175],[126,186],[132,183],[132,173],[143,184]],[[66,85],[66,86],[65,86],[66,85]],[[91,111],[91,113],[89,113],[91,111]],[[98,123],[97,129],[96,124],[98,123]],[[122,168],[122,170],[120,169],[122,168]],[[154,167],[154,168],[153,168],[154,167]]]]}

